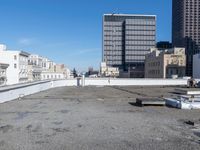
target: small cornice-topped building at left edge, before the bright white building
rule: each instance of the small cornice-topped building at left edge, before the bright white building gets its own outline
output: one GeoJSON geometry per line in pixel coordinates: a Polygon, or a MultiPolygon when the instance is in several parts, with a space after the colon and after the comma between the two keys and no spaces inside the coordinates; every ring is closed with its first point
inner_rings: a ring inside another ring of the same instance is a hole
{"type": "Polygon", "coordinates": [[[8,64],[0,63],[0,86],[6,85],[8,64]]]}

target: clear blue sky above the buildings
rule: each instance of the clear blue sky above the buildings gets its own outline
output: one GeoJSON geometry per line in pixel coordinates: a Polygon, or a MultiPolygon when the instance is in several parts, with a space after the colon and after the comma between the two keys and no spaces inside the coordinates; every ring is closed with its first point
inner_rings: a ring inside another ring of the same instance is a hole
{"type": "Polygon", "coordinates": [[[104,13],[157,15],[157,41],[171,41],[171,0],[1,0],[0,43],[98,69],[104,13]]]}

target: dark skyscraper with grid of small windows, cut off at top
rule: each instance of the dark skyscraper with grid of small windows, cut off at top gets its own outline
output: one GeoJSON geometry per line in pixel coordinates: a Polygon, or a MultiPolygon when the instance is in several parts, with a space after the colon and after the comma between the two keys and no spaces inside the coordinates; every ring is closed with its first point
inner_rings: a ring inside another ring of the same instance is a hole
{"type": "Polygon", "coordinates": [[[186,75],[192,76],[193,55],[200,50],[200,0],[172,0],[172,3],[172,43],[186,48],[186,75]]]}

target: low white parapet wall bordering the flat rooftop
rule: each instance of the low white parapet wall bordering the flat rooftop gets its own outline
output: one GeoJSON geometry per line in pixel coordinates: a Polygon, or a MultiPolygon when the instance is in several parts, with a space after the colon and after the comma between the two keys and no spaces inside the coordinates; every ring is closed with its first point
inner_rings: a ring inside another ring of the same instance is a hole
{"type": "MultiPolygon", "coordinates": [[[[0,88],[0,103],[35,94],[51,88],[64,86],[81,86],[83,80],[68,79],[55,81],[38,81],[0,88]]],[[[184,79],[113,79],[113,78],[86,78],[84,86],[184,86],[184,79]]]]}

